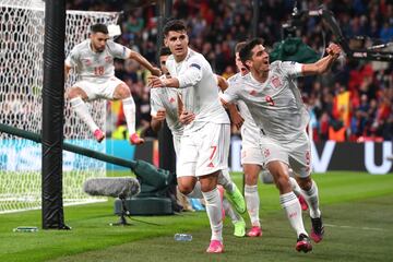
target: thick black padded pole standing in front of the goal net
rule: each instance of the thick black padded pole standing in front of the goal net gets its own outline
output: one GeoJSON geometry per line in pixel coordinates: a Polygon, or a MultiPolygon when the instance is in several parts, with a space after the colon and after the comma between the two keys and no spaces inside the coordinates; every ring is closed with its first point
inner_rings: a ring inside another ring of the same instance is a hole
{"type": "Polygon", "coordinates": [[[43,228],[66,229],[62,202],[66,1],[46,0],[43,87],[43,228]]]}

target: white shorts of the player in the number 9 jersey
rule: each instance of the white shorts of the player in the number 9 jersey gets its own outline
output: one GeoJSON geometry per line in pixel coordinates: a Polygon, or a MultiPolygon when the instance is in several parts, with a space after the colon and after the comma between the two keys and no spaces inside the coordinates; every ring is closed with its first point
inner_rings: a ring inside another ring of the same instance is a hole
{"type": "Polygon", "coordinates": [[[290,143],[279,143],[267,136],[260,140],[264,165],[272,160],[287,164],[299,177],[308,177],[311,171],[311,144],[307,133],[290,143]]]}

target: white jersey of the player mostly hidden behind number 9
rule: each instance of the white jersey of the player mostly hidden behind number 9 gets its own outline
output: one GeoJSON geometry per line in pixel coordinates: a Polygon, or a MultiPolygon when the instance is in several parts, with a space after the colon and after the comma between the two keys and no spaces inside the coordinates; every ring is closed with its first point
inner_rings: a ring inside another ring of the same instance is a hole
{"type": "MultiPolygon", "coordinates": [[[[228,79],[228,83],[236,82],[238,78],[243,78],[243,75],[237,73],[228,79]]],[[[241,86],[239,87],[241,88],[241,86]]],[[[252,119],[246,103],[243,100],[238,100],[236,104],[239,108],[240,116],[245,119],[245,122],[240,128],[242,147],[258,147],[255,141],[258,141],[261,130],[252,119]]]]}

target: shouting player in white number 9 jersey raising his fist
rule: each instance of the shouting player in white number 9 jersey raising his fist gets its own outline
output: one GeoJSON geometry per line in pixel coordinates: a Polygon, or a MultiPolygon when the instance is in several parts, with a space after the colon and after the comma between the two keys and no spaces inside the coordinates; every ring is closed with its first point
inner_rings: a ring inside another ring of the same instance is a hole
{"type": "Polygon", "coordinates": [[[289,166],[309,205],[311,238],[315,242],[322,240],[324,227],[318,188],[310,176],[310,141],[306,133],[309,115],[294,80],[300,75],[327,71],[340,56],[341,48],[331,44],[326,51],[329,55],[315,63],[275,61],[270,64],[262,41],[252,39],[239,53],[250,73],[229,82],[228,90],[222,96],[224,103],[243,100],[259,127],[264,165],[274,178],[279,190],[279,202],[297,234],[296,250],[303,252],[311,251],[312,246],[303,226],[300,203],[289,183],[289,166]]]}

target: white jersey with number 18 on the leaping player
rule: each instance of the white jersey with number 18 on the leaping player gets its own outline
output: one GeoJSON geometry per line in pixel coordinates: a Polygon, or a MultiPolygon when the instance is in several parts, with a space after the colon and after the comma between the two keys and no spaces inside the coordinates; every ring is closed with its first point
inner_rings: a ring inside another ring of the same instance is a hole
{"type": "Polygon", "coordinates": [[[115,76],[114,58],[127,59],[131,50],[112,40],[107,40],[102,52],[95,52],[91,39],[86,39],[72,48],[66,59],[68,67],[74,68],[79,81],[103,83],[115,76]]]}

